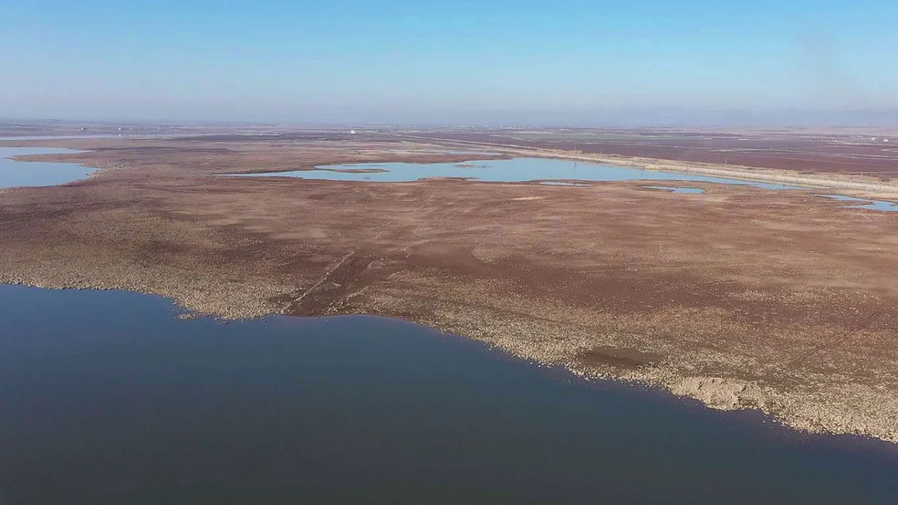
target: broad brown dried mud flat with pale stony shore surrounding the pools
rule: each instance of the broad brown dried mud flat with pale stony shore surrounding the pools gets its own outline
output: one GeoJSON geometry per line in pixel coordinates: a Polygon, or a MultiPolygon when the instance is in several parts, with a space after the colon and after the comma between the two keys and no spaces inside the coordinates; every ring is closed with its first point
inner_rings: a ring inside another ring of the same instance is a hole
{"type": "Polygon", "coordinates": [[[92,151],[44,159],[106,170],[0,192],[2,282],[131,289],[232,318],[401,317],[898,442],[898,213],[696,182],[706,193],[216,175],[475,157],[386,137],[52,145],[92,151]]]}

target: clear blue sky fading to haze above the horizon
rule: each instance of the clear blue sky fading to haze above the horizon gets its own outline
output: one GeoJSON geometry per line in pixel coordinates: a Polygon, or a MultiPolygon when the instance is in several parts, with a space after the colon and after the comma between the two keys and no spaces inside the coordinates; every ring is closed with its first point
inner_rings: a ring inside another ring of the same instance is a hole
{"type": "Polygon", "coordinates": [[[0,117],[898,110],[895,19],[891,0],[0,0],[0,117]]]}

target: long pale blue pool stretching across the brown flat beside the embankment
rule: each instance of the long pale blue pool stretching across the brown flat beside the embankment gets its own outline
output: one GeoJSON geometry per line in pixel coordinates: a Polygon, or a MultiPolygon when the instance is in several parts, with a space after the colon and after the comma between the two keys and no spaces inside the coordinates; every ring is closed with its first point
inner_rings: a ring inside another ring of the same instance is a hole
{"type": "Polygon", "coordinates": [[[691,173],[658,172],[624,166],[591,164],[546,158],[510,160],[474,160],[463,163],[437,164],[341,164],[320,166],[316,170],[277,173],[242,173],[241,177],[299,177],[327,181],[412,182],[435,177],[454,177],[482,182],[545,181],[699,181],[741,184],[768,190],[797,190],[794,186],[763,182],[738,181],[706,177],[691,173]],[[371,172],[376,169],[376,172],[371,172]],[[358,173],[356,171],[364,171],[358,173]]]}

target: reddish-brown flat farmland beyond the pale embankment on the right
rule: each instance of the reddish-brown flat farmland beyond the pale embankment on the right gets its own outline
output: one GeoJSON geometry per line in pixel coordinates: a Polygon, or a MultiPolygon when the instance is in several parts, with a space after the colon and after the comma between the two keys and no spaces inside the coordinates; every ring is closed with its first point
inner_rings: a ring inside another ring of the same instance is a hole
{"type": "Polygon", "coordinates": [[[898,130],[569,129],[427,131],[418,135],[688,163],[898,179],[898,130]]]}

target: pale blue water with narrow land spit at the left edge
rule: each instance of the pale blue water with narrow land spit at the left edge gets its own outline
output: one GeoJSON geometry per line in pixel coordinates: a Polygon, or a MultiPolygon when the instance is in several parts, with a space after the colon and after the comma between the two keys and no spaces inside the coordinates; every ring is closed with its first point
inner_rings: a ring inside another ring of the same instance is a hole
{"type": "Polygon", "coordinates": [[[81,153],[59,147],[0,146],[0,188],[19,186],[55,186],[90,176],[93,168],[73,163],[15,162],[10,158],[24,155],[62,155],[81,153]]]}

